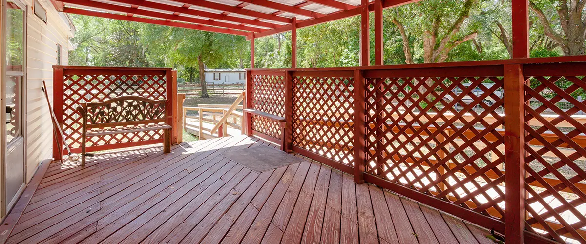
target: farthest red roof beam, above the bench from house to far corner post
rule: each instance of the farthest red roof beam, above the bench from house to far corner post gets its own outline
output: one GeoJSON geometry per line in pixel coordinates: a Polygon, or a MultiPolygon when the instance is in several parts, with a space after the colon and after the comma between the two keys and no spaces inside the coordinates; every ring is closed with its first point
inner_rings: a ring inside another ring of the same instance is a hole
{"type": "Polygon", "coordinates": [[[94,17],[100,17],[100,18],[119,19],[119,20],[139,22],[139,23],[148,23],[148,24],[152,24],[152,25],[162,25],[162,26],[171,26],[171,27],[176,27],[176,28],[203,30],[206,32],[217,32],[217,33],[224,33],[224,34],[230,34],[230,35],[239,35],[239,36],[249,35],[249,32],[243,32],[241,30],[222,29],[222,28],[215,28],[215,27],[211,27],[211,26],[193,25],[193,24],[188,24],[188,23],[179,23],[179,22],[165,21],[165,20],[160,20],[160,19],[132,17],[132,16],[126,16],[126,15],[118,15],[116,13],[89,11],[89,10],[77,9],[77,8],[65,7],[63,9],[63,12],[73,13],[76,15],[87,15],[87,16],[94,16],[94,17]]]}

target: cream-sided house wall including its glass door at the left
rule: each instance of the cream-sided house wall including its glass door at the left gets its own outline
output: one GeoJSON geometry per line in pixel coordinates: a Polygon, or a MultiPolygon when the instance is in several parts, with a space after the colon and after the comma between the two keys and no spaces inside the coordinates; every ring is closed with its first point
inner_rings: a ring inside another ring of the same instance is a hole
{"type": "MultiPolygon", "coordinates": [[[[51,157],[52,123],[41,87],[52,95],[53,69],[67,64],[73,25],[52,0],[0,0],[2,74],[0,184],[2,218],[42,160],[51,157]]],[[[52,98],[51,98],[52,99],[52,98]]]]}

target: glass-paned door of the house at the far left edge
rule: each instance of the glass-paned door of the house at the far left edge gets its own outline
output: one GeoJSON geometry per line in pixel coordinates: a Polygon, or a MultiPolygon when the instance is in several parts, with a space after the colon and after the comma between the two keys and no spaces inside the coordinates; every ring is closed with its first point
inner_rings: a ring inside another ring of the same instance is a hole
{"type": "Polygon", "coordinates": [[[16,1],[4,5],[5,50],[4,106],[5,155],[4,202],[10,209],[25,187],[24,98],[26,65],[26,6],[16,1]]]}

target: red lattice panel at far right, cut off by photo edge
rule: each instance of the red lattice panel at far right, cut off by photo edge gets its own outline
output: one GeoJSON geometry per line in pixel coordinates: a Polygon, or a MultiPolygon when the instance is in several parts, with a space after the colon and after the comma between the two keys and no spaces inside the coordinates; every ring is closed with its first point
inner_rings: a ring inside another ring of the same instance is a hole
{"type": "MultiPolygon", "coordinates": [[[[527,77],[525,131],[527,224],[564,242],[586,242],[584,77],[527,77]],[[573,106],[562,106],[571,104],[573,106]],[[539,187],[536,187],[539,185],[539,187]]],[[[541,232],[541,231],[540,231],[541,232]]]]}

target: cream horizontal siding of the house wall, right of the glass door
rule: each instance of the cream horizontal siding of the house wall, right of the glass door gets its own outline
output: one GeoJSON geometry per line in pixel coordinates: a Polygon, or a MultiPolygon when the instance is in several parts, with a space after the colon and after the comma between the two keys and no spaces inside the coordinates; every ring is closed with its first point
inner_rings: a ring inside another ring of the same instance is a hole
{"type": "Polygon", "coordinates": [[[26,181],[30,181],[39,163],[52,155],[52,123],[47,102],[41,90],[42,81],[47,83],[51,101],[53,92],[53,66],[57,64],[57,44],[62,46],[62,65],[67,64],[73,36],[69,25],[48,0],[39,1],[47,10],[47,23],[28,6],[27,28],[27,94],[26,94],[26,181]]]}

